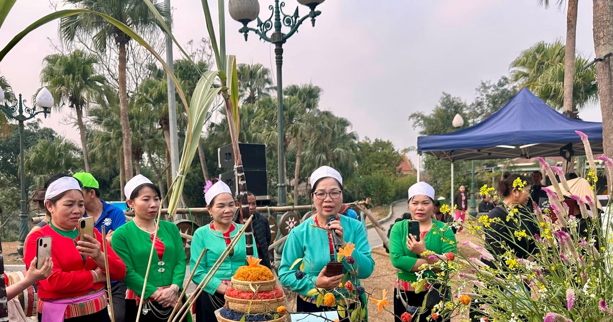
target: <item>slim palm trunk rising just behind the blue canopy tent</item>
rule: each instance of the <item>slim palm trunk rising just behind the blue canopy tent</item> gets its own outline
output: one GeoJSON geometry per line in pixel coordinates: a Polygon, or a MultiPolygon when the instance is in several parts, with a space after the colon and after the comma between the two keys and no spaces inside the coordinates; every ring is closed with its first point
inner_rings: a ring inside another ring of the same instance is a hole
{"type": "MultiPolygon", "coordinates": [[[[564,2],[568,2],[566,10],[566,48],[564,58],[564,96],[563,113],[568,117],[576,117],[576,109],[573,104],[574,99],[574,78],[575,75],[575,48],[577,42],[577,10],[579,0],[556,0],[558,9],[561,9],[564,2]]],[[[549,0],[538,0],[539,6],[549,7],[549,0]]],[[[583,67],[582,65],[581,67],[583,67]]]]}

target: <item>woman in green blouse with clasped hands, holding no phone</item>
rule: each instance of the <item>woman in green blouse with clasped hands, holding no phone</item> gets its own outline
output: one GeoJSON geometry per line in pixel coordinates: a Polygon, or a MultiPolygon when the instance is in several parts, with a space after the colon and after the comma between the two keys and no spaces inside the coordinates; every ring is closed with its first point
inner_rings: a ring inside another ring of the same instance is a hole
{"type": "Polygon", "coordinates": [[[137,175],[124,188],[126,204],[134,210],[134,220],[124,224],[113,234],[113,249],[126,264],[128,286],[126,293],[126,321],[135,321],[139,303],[144,299],[140,321],[167,321],[185,278],[186,255],[177,226],[169,221],[156,223],[160,192],[147,177],[137,175]],[[154,240],[154,233],[158,236],[154,240]],[[151,251],[155,245],[147,278],[145,274],[151,251]]]}

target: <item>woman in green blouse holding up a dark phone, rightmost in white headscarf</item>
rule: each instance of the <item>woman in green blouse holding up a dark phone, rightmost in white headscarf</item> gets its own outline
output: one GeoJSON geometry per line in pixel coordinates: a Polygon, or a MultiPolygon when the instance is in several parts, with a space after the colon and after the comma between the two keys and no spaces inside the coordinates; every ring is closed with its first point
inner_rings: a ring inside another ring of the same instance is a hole
{"type": "MultiPolygon", "coordinates": [[[[394,315],[395,321],[401,322],[402,313],[409,311],[417,316],[413,321],[427,321],[430,309],[424,312],[411,312],[409,307],[422,307],[428,293],[428,288],[414,289],[411,283],[417,281],[414,272],[419,271],[422,264],[433,264],[438,259],[422,258],[424,251],[433,251],[436,254],[456,253],[455,236],[451,228],[444,223],[434,220],[434,188],[425,182],[417,182],[408,190],[409,212],[412,220],[403,220],[394,224],[389,238],[389,255],[392,265],[398,269],[394,287],[394,315]]],[[[428,270],[426,277],[435,277],[435,272],[428,270]]],[[[438,295],[436,286],[428,295],[438,295]]],[[[436,303],[435,303],[436,304],[436,303]]],[[[443,316],[440,317],[441,321],[443,316]]]]}

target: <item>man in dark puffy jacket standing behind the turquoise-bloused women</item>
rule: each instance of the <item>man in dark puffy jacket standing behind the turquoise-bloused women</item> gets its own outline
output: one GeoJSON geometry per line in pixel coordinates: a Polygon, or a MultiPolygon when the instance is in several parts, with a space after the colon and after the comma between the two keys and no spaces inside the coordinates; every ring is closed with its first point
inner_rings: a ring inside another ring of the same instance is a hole
{"type": "MultiPolygon", "coordinates": [[[[257,205],[255,194],[248,192],[247,202],[249,203],[249,216],[253,215],[251,226],[253,227],[253,236],[256,239],[257,258],[262,259],[260,264],[270,268],[270,253],[268,251],[268,245],[270,245],[272,237],[270,236],[270,225],[268,224],[268,218],[256,211],[257,205]]],[[[238,218],[240,218],[240,201],[237,201],[236,206],[237,210],[234,221],[238,223],[238,218]]],[[[245,219],[246,218],[248,217],[245,217],[245,219]]]]}

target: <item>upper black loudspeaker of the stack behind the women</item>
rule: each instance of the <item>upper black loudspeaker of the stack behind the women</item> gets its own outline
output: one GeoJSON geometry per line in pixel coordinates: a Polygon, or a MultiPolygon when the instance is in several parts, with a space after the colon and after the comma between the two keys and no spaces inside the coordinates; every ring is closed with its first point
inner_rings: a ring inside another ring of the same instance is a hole
{"type": "MultiPolygon", "coordinates": [[[[266,145],[239,143],[243,169],[266,171],[266,145]]],[[[217,149],[218,164],[223,169],[234,169],[234,150],[232,144],[217,149]]]]}

